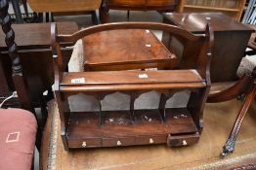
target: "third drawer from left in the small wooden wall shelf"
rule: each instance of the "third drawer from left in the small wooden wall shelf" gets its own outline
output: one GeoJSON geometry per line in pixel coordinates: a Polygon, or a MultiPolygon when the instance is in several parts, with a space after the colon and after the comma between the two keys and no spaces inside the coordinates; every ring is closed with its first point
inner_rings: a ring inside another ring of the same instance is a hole
{"type": "Polygon", "coordinates": [[[136,137],[136,145],[153,145],[166,143],[166,135],[147,135],[136,137]]]}

